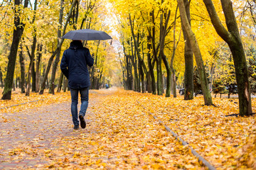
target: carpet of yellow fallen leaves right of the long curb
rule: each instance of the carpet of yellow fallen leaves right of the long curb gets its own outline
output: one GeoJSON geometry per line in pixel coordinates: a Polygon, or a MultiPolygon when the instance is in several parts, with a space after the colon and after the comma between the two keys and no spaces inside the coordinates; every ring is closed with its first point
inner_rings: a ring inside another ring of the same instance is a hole
{"type": "MultiPolygon", "coordinates": [[[[238,114],[238,98],[213,98],[215,106],[193,101],[141,95],[137,99],[217,169],[256,169],[256,118],[238,114]]],[[[256,110],[252,99],[252,110],[256,110]]]]}

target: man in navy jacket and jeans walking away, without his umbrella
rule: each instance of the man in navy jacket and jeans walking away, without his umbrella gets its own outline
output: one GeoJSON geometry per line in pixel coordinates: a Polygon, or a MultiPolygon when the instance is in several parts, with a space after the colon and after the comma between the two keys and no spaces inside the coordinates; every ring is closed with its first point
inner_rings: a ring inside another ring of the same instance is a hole
{"type": "Polygon", "coordinates": [[[70,47],[63,52],[60,62],[60,69],[68,79],[68,86],[71,94],[71,113],[74,123],[74,130],[79,129],[78,120],[78,93],[81,96],[81,108],[79,119],[81,128],[86,127],[85,113],[89,101],[90,74],[87,65],[92,67],[93,58],[89,49],[82,46],[82,40],[73,40],[70,47]]]}

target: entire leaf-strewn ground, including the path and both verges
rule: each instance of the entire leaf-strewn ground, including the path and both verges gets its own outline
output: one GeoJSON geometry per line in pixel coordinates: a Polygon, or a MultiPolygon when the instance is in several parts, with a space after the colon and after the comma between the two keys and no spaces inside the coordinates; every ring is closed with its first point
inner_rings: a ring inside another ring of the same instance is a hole
{"type": "Polygon", "coordinates": [[[69,92],[12,98],[0,101],[0,169],[206,169],[149,113],[216,169],[256,168],[255,115],[225,117],[238,113],[236,98],[203,106],[202,97],[91,91],[80,130],[73,130],[69,92]]]}

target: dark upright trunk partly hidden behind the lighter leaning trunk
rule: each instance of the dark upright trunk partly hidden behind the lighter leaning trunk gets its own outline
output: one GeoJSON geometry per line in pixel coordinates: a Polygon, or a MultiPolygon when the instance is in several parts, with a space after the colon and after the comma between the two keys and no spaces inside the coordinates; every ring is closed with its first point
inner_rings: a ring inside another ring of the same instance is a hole
{"type": "MultiPolygon", "coordinates": [[[[183,0],[186,8],[186,16],[188,18],[188,23],[191,25],[191,15],[190,15],[190,3],[188,0],[183,0]]],[[[182,26],[183,38],[185,41],[185,73],[184,73],[184,100],[193,99],[193,50],[191,47],[191,42],[188,40],[188,35],[185,28],[182,26]]]]}

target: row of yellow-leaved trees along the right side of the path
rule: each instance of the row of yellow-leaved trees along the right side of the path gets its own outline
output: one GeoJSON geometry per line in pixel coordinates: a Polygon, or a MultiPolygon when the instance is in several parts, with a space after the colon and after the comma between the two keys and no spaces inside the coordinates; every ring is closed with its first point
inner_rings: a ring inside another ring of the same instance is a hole
{"type": "Polygon", "coordinates": [[[218,67],[215,58],[224,41],[235,66],[240,115],[250,115],[252,106],[245,50],[255,44],[256,4],[249,0],[220,2],[112,0],[124,53],[121,62],[124,87],[144,92],[146,84],[147,91],[162,95],[164,75],[166,97],[170,96],[171,89],[176,97],[176,77],[180,77],[185,87],[184,99],[191,100],[194,56],[205,104],[212,105],[211,86],[206,74],[213,75],[218,71],[214,70],[218,67]]]}

